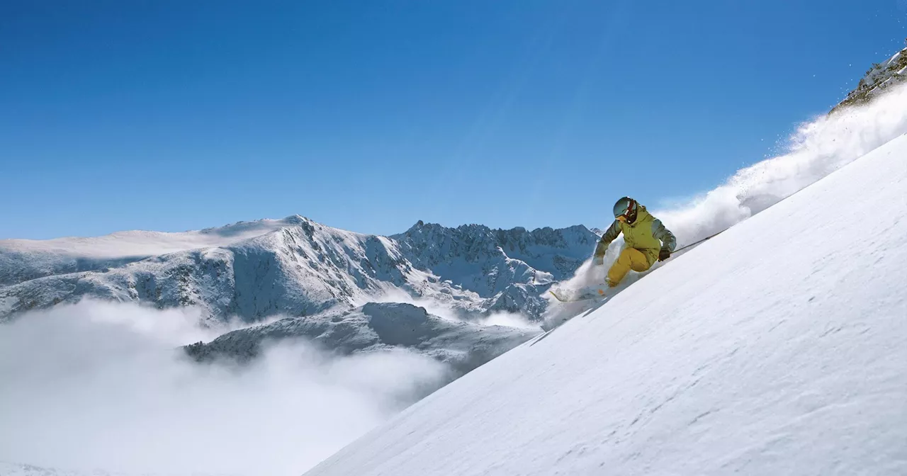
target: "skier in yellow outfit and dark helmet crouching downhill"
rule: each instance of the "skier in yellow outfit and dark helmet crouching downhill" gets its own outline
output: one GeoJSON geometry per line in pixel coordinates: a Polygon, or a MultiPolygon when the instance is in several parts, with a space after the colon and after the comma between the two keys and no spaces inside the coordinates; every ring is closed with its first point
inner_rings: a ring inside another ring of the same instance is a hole
{"type": "Polygon", "coordinates": [[[664,261],[671,256],[677,247],[674,235],[646,211],[646,207],[623,197],[614,204],[614,223],[608,231],[601,236],[599,244],[595,247],[593,262],[596,265],[604,264],[605,251],[611,241],[624,234],[624,248],[620,250],[617,261],[608,270],[605,282],[609,287],[615,287],[627,276],[629,270],[645,271],[655,264],[655,260],[664,261]]]}

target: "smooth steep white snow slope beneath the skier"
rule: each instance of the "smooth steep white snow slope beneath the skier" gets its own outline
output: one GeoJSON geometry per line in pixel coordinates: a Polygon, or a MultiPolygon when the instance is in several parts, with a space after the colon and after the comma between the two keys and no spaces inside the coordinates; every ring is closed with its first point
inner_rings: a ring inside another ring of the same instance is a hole
{"type": "Polygon", "coordinates": [[[907,473],[907,136],[307,475],[907,473]]]}

